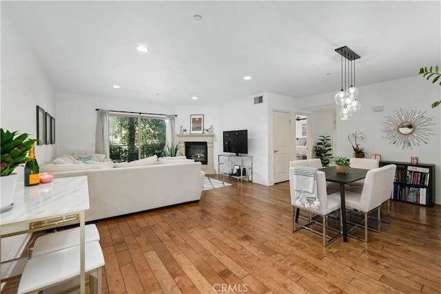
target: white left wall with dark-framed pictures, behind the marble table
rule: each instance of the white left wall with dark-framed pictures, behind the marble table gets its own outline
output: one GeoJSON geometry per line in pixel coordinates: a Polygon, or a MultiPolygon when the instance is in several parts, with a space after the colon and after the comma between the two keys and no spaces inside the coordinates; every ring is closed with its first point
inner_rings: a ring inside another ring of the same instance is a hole
{"type": "MultiPolygon", "coordinates": [[[[37,135],[36,107],[40,105],[57,118],[55,94],[20,25],[7,3],[1,3],[1,103],[3,129],[37,135]]],[[[39,145],[39,164],[55,154],[55,145],[39,145]]],[[[15,169],[23,182],[23,168],[15,169]]],[[[20,184],[19,184],[20,185],[20,184]]],[[[1,260],[21,254],[29,235],[1,239],[1,260]]]]}

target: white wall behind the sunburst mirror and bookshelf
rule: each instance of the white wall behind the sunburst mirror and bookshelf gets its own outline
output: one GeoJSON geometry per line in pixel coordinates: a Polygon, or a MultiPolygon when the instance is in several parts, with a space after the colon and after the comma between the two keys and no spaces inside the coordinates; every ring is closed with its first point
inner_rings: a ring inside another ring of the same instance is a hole
{"type": "MultiPolygon", "coordinates": [[[[430,107],[433,101],[440,100],[441,87],[426,81],[422,76],[402,78],[396,81],[378,83],[359,87],[360,102],[362,109],[353,114],[351,120],[337,119],[337,150],[338,156],[351,157],[353,154],[351,144],[347,138],[349,132],[357,130],[365,134],[365,138],[359,143],[365,147],[368,154],[381,154],[382,160],[410,162],[411,156],[418,156],[420,163],[434,163],[435,182],[435,202],[441,204],[441,136],[440,109],[430,107]],[[373,112],[373,106],[383,106],[382,112],[373,112]],[[429,144],[412,147],[412,149],[402,149],[396,145],[389,144],[386,138],[382,138],[381,130],[384,128],[385,116],[392,116],[397,109],[410,109],[416,107],[418,110],[426,112],[427,116],[433,117],[432,126],[435,136],[429,137],[429,144]]],[[[317,96],[311,96],[298,100],[301,107],[317,107],[325,101],[333,101],[336,93],[331,92],[317,96]]]]}

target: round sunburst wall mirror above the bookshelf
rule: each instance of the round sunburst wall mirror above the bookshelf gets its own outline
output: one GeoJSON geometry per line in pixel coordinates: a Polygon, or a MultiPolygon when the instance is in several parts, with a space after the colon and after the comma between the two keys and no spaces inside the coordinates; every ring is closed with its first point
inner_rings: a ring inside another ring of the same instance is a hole
{"type": "Polygon", "coordinates": [[[395,110],[392,116],[386,116],[384,121],[383,138],[389,140],[389,144],[412,149],[412,146],[427,144],[429,136],[433,136],[433,129],[430,128],[432,118],[425,116],[426,112],[418,112],[413,107],[409,110],[395,110]]]}

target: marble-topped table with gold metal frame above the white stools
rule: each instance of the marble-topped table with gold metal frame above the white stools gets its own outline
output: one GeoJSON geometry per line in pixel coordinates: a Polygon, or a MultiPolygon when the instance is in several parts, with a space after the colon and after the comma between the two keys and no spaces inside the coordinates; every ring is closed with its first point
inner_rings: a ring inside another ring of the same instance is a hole
{"type": "MultiPolygon", "coordinates": [[[[19,182],[12,202],[12,209],[0,215],[1,238],[80,224],[80,291],[85,293],[84,211],[89,209],[88,177],[57,178],[49,184],[32,187],[19,182]],[[20,224],[29,224],[29,229],[14,231],[20,224]]],[[[27,260],[28,257],[1,260],[1,282],[21,275],[20,265],[24,266],[27,260]],[[4,273],[7,275],[3,276],[4,273]]]]}

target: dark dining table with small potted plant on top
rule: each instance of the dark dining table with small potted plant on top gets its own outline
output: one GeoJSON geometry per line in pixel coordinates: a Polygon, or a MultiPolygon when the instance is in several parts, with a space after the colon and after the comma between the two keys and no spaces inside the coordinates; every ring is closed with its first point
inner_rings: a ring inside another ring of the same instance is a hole
{"type": "Polygon", "coordinates": [[[362,180],[366,177],[369,169],[348,168],[345,174],[338,173],[336,166],[322,167],[319,171],[325,172],[327,182],[337,182],[340,185],[340,201],[342,205],[342,227],[343,227],[343,241],[347,242],[347,224],[346,224],[346,204],[345,204],[345,185],[362,180]]]}

